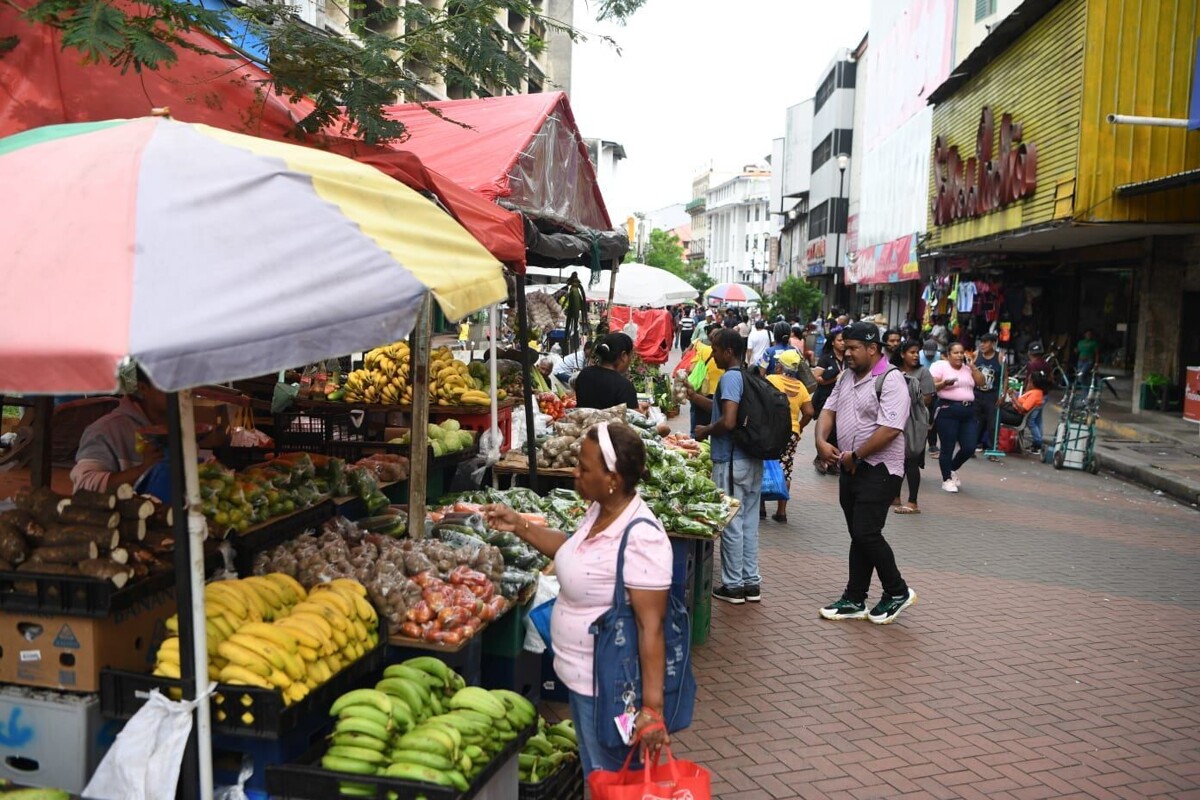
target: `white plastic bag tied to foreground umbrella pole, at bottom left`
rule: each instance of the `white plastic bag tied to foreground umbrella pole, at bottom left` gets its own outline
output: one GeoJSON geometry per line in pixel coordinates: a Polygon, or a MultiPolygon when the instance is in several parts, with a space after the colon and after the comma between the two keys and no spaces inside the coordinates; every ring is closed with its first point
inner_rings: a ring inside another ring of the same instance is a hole
{"type": "Polygon", "coordinates": [[[216,684],[196,700],[168,700],[152,690],[145,705],[125,723],[116,741],[83,790],[89,800],[174,798],[184,748],[192,733],[192,711],[208,703],[216,684]]]}

